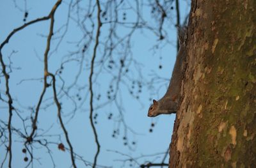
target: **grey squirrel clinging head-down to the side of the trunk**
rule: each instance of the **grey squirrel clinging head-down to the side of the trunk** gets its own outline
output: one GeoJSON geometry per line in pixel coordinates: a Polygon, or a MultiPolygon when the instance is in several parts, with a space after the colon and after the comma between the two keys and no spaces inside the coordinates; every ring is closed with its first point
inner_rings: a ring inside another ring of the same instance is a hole
{"type": "Polygon", "coordinates": [[[159,114],[172,114],[178,110],[180,101],[180,87],[183,76],[183,63],[186,55],[185,41],[187,38],[187,26],[178,27],[179,52],[176,57],[172,72],[172,78],[168,89],[160,100],[153,100],[153,104],[148,109],[148,117],[156,117],[159,114]]]}

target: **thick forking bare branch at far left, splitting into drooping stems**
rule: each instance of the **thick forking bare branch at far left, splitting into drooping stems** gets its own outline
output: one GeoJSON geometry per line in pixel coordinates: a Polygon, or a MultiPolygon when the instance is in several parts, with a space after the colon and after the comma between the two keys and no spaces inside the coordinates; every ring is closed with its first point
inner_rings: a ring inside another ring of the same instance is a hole
{"type": "MultiPolygon", "coordinates": [[[[52,38],[52,35],[53,35],[53,26],[54,26],[54,13],[56,11],[56,9],[58,8],[58,6],[61,4],[61,0],[57,1],[56,4],[54,4],[54,6],[52,7],[52,10],[51,12],[49,13],[49,15],[47,17],[42,17],[42,18],[39,18],[39,19],[36,19],[36,20],[32,20],[26,24],[24,24],[23,26],[20,26],[18,27],[17,29],[14,29],[12,31],[12,33],[10,33],[6,40],[4,40],[3,43],[1,43],[0,45],[0,61],[1,61],[1,65],[3,67],[3,74],[4,74],[4,77],[6,79],[6,95],[8,95],[8,98],[9,98],[9,101],[8,101],[8,104],[9,104],[9,121],[8,121],[8,130],[9,130],[9,146],[8,146],[8,151],[10,153],[10,157],[9,157],[9,167],[11,167],[11,162],[12,162],[12,130],[11,130],[11,121],[12,121],[12,97],[10,95],[10,91],[9,91],[9,86],[8,86],[8,79],[9,79],[9,75],[8,73],[6,73],[6,66],[4,65],[4,62],[3,62],[3,56],[1,54],[1,49],[4,47],[4,45],[6,43],[8,43],[8,41],[10,40],[10,38],[13,36],[13,34],[17,33],[18,31],[20,31],[21,29],[24,29],[26,26],[29,26],[31,24],[35,24],[36,22],[40,22],[42,20],[48,20],[48,19],[51,19],[51,25],[50,25],[50,31],[49,31],[49,36],[47,38],[47,46],[46,46],[46,49],[45,49],[45,54],[44,54],[44,88],[43,88],[43,91],[40,95],[40,99],[39,99],[39,102],[38,104],[36,105],[36,112],[35,112],[35,118],[33,119],[33,123],[32,123],[32,132],[31,134],[27,137],[26,139],[26,142],[25,142],[25,146],[27,143],[31,143],[33,142],[33,135],[35,134],[35,131],[37,129],[36,127],[36,122],[38,120],[38,113],[39,113],[39,109],[40,109],[40,105],[42,103],[42,100],[43,100],[43,97],[44,97],[44,94],[45,94],[45,91],[47,89],[47,87],[49,86],[49,84],[47,84],[47,76],[48,75],[51,75],[52,76],[52,79],[53,79],[53,90],[54,90],[54,100],[57,104],[57,107],[58,107],[58,116],[60,118],[60,123],[61,123],[61,127],[63,128],[64,132],[65,132],[65,135],[66,135],[66,139],[67,139],[67,142],[68,142],[68,145],[70,146],[70,153],[72,155],[72,164],[74,167],[76,167],[75,163],[74,163],[74,157],[73,157],[73,151],[72,151],[72,146],[71,146],[71,143],[69,142],[68,140],[68,136],[67,136],[67,130],[65,130],[65,127],[63,125],[63,122],[61,120],[61,116],[60,116],[60,110],[61,110],[61,106],[60,106],[60,103],[58,102],[58,99],[57,99],[57,96],[56,96],[56,86],[55,86],[55,78],[54,78],[54,75],[52,75],[51,73],[48,72],[48,53],[49,53],[49,50],[50,50],[50,46],[51,46],[51,38],[52,38]]],[[[26,146],[26,148],[28,149],[28,147],[26,146]]],[[[29,152],[29,155],[31,156],[31,160],[29,161],[29,164],[32,162],[33,160],[33,155],[32,153],[30,152],[30,150],[28,149],[28,152],[29,152]]],[[[29,165],[28,164],[28,165],[29,165]]],[[[27,166],[28,166],[27,165],[27,166]]]]}

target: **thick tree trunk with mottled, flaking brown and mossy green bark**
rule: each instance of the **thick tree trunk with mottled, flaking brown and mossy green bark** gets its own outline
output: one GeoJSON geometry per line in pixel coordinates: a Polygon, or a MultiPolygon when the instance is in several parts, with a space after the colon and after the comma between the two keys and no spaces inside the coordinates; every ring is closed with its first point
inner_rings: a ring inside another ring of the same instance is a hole
{"type": "Polygon", "coordinates": [[[256,167],[256,1],[191,3],[169,167],[256,167]]]}

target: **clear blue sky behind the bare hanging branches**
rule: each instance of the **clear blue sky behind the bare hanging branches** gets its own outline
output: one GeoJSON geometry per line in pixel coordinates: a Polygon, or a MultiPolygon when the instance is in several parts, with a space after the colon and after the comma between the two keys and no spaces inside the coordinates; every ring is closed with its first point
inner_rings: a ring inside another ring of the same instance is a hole
{"type": "MultiPolygon", "coordinates": [[[[84,15],[77,14],[78,7],[75,2],[63,1],[56,11],[54,36],[49,55],[49,72],[59,75],[56,78],[58,98],[60,98],[63,107],[62,115],[74,152],[83,157],[84,160],[93,162],[96,145],[89,121],[90,94],[88,94],[88,75],[95,41],[93,40],[92,43],[88,44],[90,36],[84,36],[83,27],[77,24],[79,22],[78,19],[83,20],[84,15]],[[69,6],[70,2],[72,2],[71,7],[69,6]],[[61,38],[62,34],[65,35],[63,38],[61,38]],[[84,45],[88,47],[85,52],[83,52],[84,45]],[[60,69],[61,65],[63,65],[63,70],[60,69]],[[76,84],[74,84],[79,70],[81,70],[81,73],[77,78],[76,84]],[[62,79],[65,82],[62,82],[62,79]],[[63,90],[67,92],[61,91],[61,88],[64,88],[63,90]]],[[[142,2],[147,3],[147,1],[140,1],[141,4],[142,2]]],[[[6,39],[6,36],[13,29],[24,24],[25,11],[28,11],[28,17],[26,17],[26,22],[28,22],[48,15],[54,3],[56,2],[49,0],[19,0],[16,1],[17,6],[15,8],[15,1],[0,1],[0,43],[6,39]]],[[[88,2],[81,3],[83,7],[83,9],[80,9],[81,13],[85,13],[86,5],[88,5],[88,2]]],[[[125,22],[132,22],[136,18],[132,9],[128,8],[129,5],[132,5],[132,3],[126,3],[126,6],[122,6],[119,11],[121,17],[125,15],[125,22]]],[[[102,8],[104,7],[106,6],[103,5],[102,8]]],[[[142,9],[141,13],[143,13],[145,22],[148,25],[156,26],[156,20],[150,15],[150,10],[152,9],[147,5],[140,10],[142,9]]],[[[180,1],[180,11],[181,19],[184,20],[184,15],[189,12],[187,1],[180,1]]],[[[95,22],[95,18],[92,17],[92,20],[95,22]]],[[[148,29],[138,29],[131,36],[131,43],[129,43],[131,50],[126,51],[125,47],[120,43],[116,50],[113,50],[113,53],[110,54],[111,56],[106,59],[102,58],[104,57],[106,36],[109,33],[109,24],[103,24],[100,45],[97,50],[95,76],[93,78],[93,93],[95,94],[93,105],[94,107],[99,107],[94,111],[94,114],[97,114],[95,126],[101,145],[98,158],[99,165],[139,167],[138,164],[143,164],[147,161],[161,162],[163,154],[152,157],[150,155],[165,153],[169,148],[175,115],[158,116],[152,119],[147,117],[147,110],[152,98],[157,100],[164,95],[172,75],[177,53],[175,46],[177,34],[173,26],[175,22],[175,11],[170,10],[170,15],[168,15],[168,19],[166,19],[163,26],[167,33],[166,39],[169,40],[168,42],[166,40],[159,42],[156,34],[148,29]],[[118,83],[115,78],[116,74],[118,74],[118,69],[115,68],[118,66],[114,64],[112,68],[109,68],[109,64],[111,66],[109,61],[114,60],[118,63],[119,59],[124,59],[125,54],[127,54],[125,62],[127,65],[125,67],[129,72],[127,72],[127,75],[122,75],[122,80],[118,83]],[[106,61],[104,66],[101,66],[101,60],[106,61]],[[111,89],[109,91],[109,86],[113,87],[113,91],[111,89]],[[116,93],[116,101],[109,102],[108,96],[113,93],[116,93]],[[98,100],[97,97],[99,95],[98,100]],[[109,103],[105,104],[105,102],[109,103]],[[122,111],[122,114],[120,111],[122,111]],[[111,119],[109,119],[109,116],[111,116],[111,119]],[[152,132],[149,132],[150,128],[152,128],[150,126],[152,123],[154,123],[154,128],[152,132]],[[113,137],[113,132],[116,132],[115,137],[113,137]],[[138,164],[134,161],[124,162],[124,160],[129,160],[130,157],[138,158],[136,160],[138,164]]],[[[24,134],[25,129],[22,120],[17,114],[24,119],[27,118],[25,125],[29,132],[30,128],[28,126],[31,126],[29,118],[31,117],[31,112],[33,116],[33,111],[35,111],[43,88],[43,59],[47,34],[49,33],[49,23],[49,20],[38,22],[22,29],[22,31],[12,36],[10,42],[2,50],[6,65],[11,65],[10,67],[12,67],[10,93],[13,96],[13,100],[15,100],[13,105],[19,109],[19,112],[13,114],[13,128],[19,129],[24,134]]],[[[87,20],[84,25],[89,27],[88,30],[90,31],[89,24],[92,23],[87,20]]],[[[116,35],[124,36],[125,33],[129,32],[129,29],[131,28],[118,26],[116,35]]],[[[8,70],[10,71],[10,68],[8,70]]],[[[3,73],[1,73],[0,93],[1,98],[6,99],[4,82],[3,73]]],[[[56,167],[70,167],[70,154],[67,151],[59,150],[57,146],[58,143],[62,142],[65,147],[68,147],[57,118],[56,106],[52,102],[52,89],[49,88],[40,109],[38,120],[38,128],[40,129],[37,131],[37,139],[42,142],[47,139],[48,142],[51,142],[48,147],[51,150],[51,156],[56,167]]],[[[8,104],[0,100],[0,119],[4,122],[8,121],[7,107],[8,104]]],[[[1,122],[0,126],[4,127],[4,123],[1,122]]],[[[8,132],[6,132],[6,136],[8,136],[8,132]]],[[[4,136],[1,137],[0,144],[0,160],[3,162],[6,146],[8,145],[8,142],[4,142],[4,136]]],[[[30,157],[28,153],[22,153],[23,144],[24,139],[21,139],[17,133],[13,132],[13,167],[26,167],[28,164],[28,162],[24,162],[24,157],[28,157],[28,159],[30,157]]],[[[52,164],[47,148],[39,144],[34,144],[33,148],[34,167],[53,167],[54,164],[52,164]]],[[[165,162],[168,163],[168,157],[165,162]]],[[[4,162],[3,167],[7,167],[7,163],[4,162]]],[[[86,167],[79,159],[76,160],[76,164],[77,167],[86,167]]]]}

